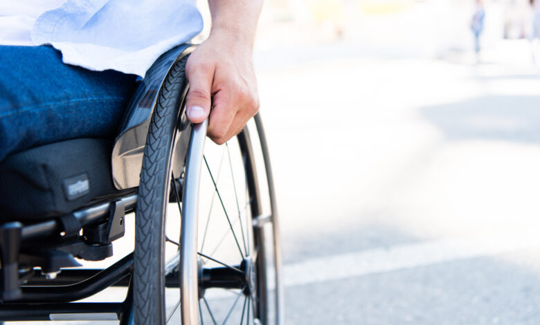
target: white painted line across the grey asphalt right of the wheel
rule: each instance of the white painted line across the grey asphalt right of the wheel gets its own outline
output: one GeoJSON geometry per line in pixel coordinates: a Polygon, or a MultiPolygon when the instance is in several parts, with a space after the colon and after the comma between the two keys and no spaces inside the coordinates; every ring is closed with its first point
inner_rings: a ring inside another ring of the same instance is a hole
{"type": "Polygon", "coordinates": [[[538,234],[485,236],[468,239],[424,241],[318,257],[284,267],[285,286],[361,277],[381,272],[471,259],[525,248],[540,248],[538,234]]]}

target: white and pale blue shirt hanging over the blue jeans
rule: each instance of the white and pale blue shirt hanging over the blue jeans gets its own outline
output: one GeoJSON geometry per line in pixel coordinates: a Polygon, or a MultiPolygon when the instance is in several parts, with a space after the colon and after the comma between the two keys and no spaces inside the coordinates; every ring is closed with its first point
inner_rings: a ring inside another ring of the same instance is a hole
{"type": "Polygon", "coordinates": [[[0,1],[0,44],[51,44],[64,63],[96,71],[143,76],[202,24],[195,0],[0,1]]]}

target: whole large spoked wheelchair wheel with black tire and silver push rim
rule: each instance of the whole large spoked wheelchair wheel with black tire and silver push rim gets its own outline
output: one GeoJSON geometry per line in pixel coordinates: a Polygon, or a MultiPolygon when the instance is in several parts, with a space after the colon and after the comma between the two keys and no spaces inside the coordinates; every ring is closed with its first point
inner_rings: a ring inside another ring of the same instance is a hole
{"type": "Polygon", "coordinates": [[[262,125],[256,116],[226,145],[204,148],[204,122],[187,145],[185,61],[165,80],[145,147],[134,323],[279,324],[278,223],[262,125]]]}

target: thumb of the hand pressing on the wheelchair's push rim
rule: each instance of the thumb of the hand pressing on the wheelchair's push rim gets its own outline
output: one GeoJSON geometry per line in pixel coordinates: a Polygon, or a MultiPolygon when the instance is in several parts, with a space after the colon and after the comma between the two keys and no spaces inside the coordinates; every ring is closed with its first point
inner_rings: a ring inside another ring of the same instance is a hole
{"type": "Polygon", "coordinates": [[[212,105],[210,89],[214,73],[196,67],[189,72],[187,77],[190,82],[190,90],[186,98],[186,114],[191,122],[200,123],[206,120],[210,113],[212,105]]]}

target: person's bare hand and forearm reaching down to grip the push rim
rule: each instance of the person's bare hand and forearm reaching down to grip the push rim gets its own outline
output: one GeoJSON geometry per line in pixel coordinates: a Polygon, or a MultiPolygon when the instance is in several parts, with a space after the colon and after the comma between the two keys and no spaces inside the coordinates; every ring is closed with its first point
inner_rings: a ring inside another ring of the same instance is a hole
{"type": "Polygon", "coordinates": [[[188,119],[194,123],[210,113],[208,137],[222,145],[259,109],[252,48],[260,1],[208,2],[213,27],[210,37],[188,59],[186,106],[188,119]]]}

